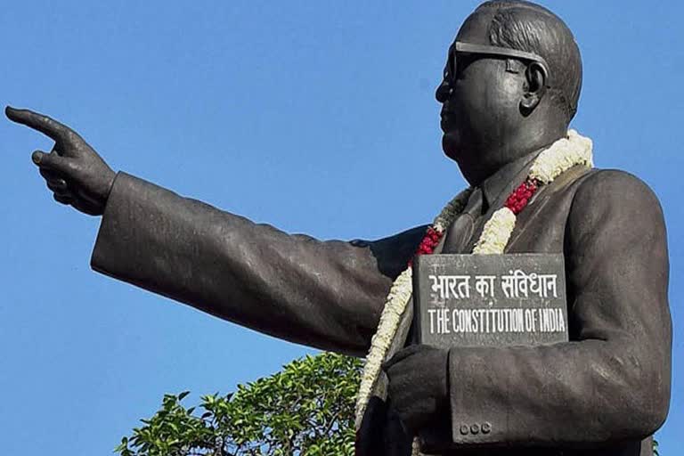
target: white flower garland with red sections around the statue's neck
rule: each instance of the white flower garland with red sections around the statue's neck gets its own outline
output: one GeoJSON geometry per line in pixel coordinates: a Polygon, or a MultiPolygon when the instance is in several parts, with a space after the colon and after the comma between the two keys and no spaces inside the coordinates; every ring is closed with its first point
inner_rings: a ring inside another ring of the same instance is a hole
{"type": "MultiPolygon", "coordinates": [[[[480,239],[473,248],[473,254],[502,254],[516,225],[517,214],[527,206],[534,193],[542,185],[553,182],[558,175],[571,167],[576,165],[593,167],[591,149],[592,143],[589,138],[581,136],[574,130],[569,130],[566,138],[559,139],[542,151],[534,160],[525,182],[509,195],[503,208],[494,212],[492,218],[487,221],[480,239]]],[[[428,228],[415,255],[429,255],[435,251],[446,229],[465,208],[471,192],[472,188],[468,188],[449,201],[439,216],[436,216],[432,226],[428,228]]],[[[387,356],[387,350],[395,338],[402,314],[411,298],[412,271],[411,258],[408,267],[399,274],[392,288],[389,289],[385,306],[380,314],[378,330],[371,339],[371,349],[366,357],[356,398],[355,426],[357,431],[361,427],[363,414],[371,399],[373,388],[378,382],[382,362],[387,356]]],[[[413,441],[411,454],[419,454],[417,439],[413,441]]]]}

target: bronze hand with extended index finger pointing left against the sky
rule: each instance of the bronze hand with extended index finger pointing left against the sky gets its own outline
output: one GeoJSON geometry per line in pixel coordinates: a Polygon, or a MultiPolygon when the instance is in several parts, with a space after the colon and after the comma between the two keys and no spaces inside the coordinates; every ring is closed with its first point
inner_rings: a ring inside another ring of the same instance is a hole
{"type": "Polygon", "coordinates": [[[85,214],[102,216],[116,175],[102,157],[75,131],[52,118],[9,106],[4,112],[10,120],[54,140],[50,153],[35,151],[31,156],[54,199],[85,214]]]}

